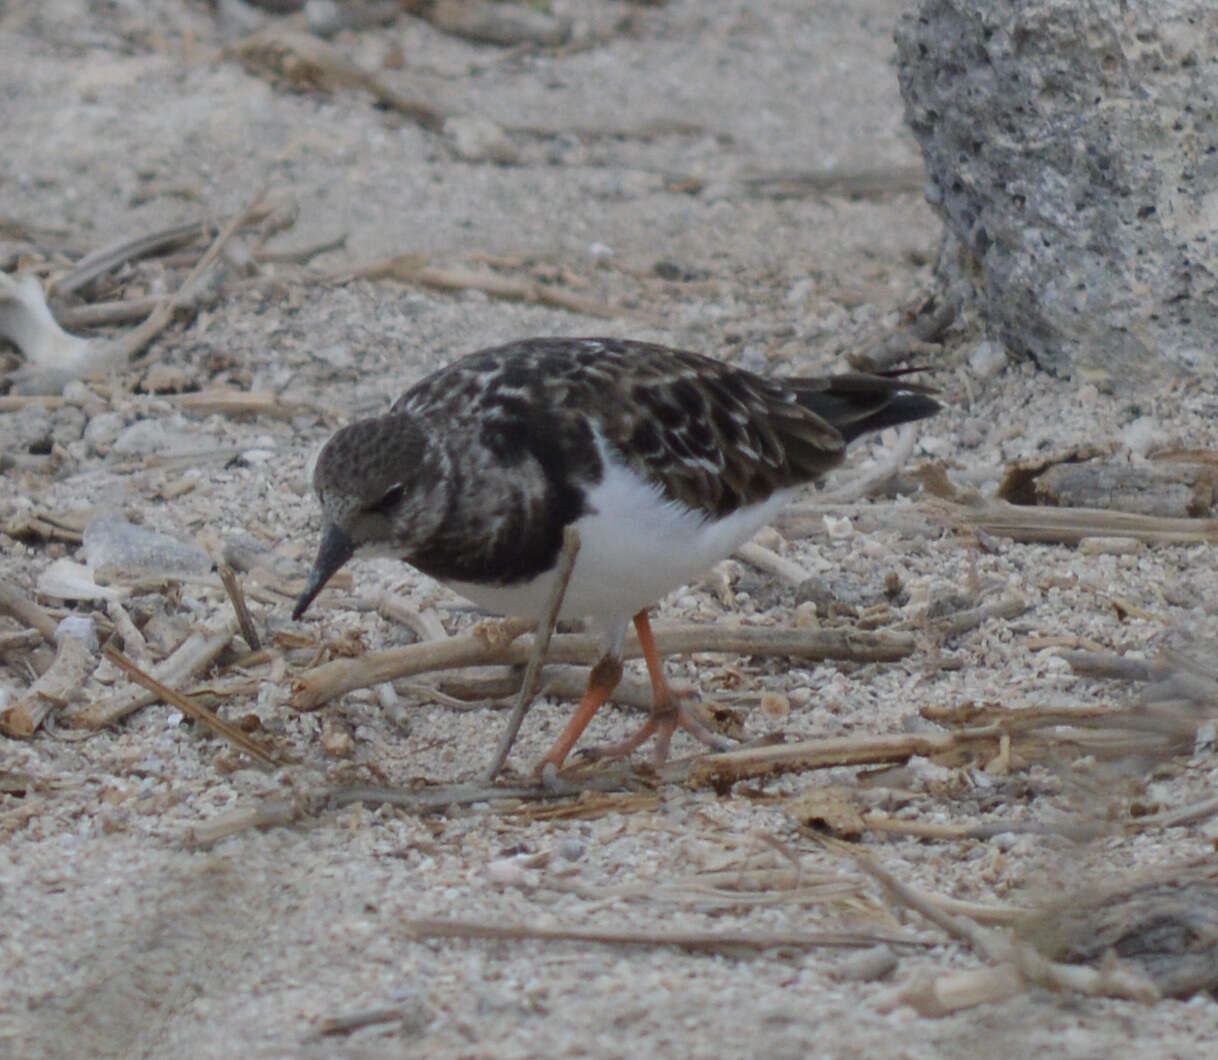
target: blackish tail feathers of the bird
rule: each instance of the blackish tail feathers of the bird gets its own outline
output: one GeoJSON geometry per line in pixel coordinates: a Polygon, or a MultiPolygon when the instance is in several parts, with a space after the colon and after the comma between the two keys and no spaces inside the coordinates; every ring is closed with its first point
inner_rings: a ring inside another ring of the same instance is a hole
{"type": "Polygon", "coordinates": [[[904,373],[828,375],[788,379],[799,391],[799,403],[836,426],[848,442],[885,426],[899,426],[934,415],[940,406],[934,390],[898,376],[904,373]]]}

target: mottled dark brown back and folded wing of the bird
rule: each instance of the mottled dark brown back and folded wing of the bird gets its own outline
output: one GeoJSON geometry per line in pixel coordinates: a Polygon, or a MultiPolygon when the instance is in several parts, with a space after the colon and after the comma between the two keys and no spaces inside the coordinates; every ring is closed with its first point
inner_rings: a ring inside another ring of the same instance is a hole
{"type": "Polygon", "coordinates": [[[591,423],[665,496],[725,515],[818,479],[849,437],[884,425],[876,417],[906,389],[884,376],[766,379],[649,342],[527,339],[457,361],[393,411],[443,417],[496,443],[519,437],[542,457],[565,450],[577,475],[599,469],[576,454],[591,423]]]}

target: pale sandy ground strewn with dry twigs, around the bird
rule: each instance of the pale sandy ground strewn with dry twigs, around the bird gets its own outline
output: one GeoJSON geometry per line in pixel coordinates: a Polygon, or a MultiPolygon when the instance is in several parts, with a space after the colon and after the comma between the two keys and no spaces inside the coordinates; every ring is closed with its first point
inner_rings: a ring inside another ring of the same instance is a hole
{"type": "MultiPolygon", "coordinates": [[[[346,235],[343,247],[313,260],[318,273],[407,253],[482,269],[490,261],[616,316],[389,279],[306,283],[296,267],[264,266],[262,278],[278,283],[250,284],[167,331],[118,387],[99,389],[108,396],[0,414],[7,450],[28,450],[48,433],[62,448],[54,474],[5,472],[0,521],[119,507],[212,548],[252,536],[300,574],[314,547],[306,465],[318,445],[479,346],[614,334],[767,372],[844,368],[845,352],[898,327],[929,289],[938,240],[938,221],[907,177],[918,160],[892,68],[899,9],[892,0],[555,2],[585,46],[479,45],[406,17],[335,41],[390,82],[532,130],[510,134],[515,164],[495,164],[462,157],[452,136],[367,93],[296,93],[242,68],[220,52],[242,30],[209,6],[13,0],[0,11],[4,247],[33,242],[69,261],[123,236],[228,216],[267,183],[270,197],[296,203],[295,224],[272,247],[346,235]],[[896,189],[776,195],[749,183],[790,171],[898,174],[896,189]],[[130,395],[152,364],[179,368],[195,386],[274,390],[301,407],[184,414],[169,398],[130,395]],[[107,429],[85,434],[110,413],[118,419],[107,429]],[[136,423],[150,423],[149,433],[132,434],[136,423]],[[147,448],[175,446],[197,456],[139,464],[147,448]]],[[[5,268],[15,264],[10,252],[5,268]]],[[[239,264],[229,279],[240,279],[239,264]]],[[[157,280],[145,268],[124,281],[155,292],[157,280]]],[[[922,426],[911,458],[944,462],[960,485],[991,492],[1010,461],[1084,442],[1111,443],[1130,459],[1150,442],[1218,447],[1212,384],[1111,396],[1021,366],[987,369],[971,352],[966,341],[935,357],[949,408],[922,426]]],[[[884,461],[893,442],[861,445],[837,482],[884,461]]],[[[1169,636],[1212,642],[1218,578],[1207,547],[1130,556],[978,547],[976,535],[911,531],[917,523],[906,517],[928,503],[848,504],[839,514],[854,532],[805,520],[801,532],[788,528],[766,542],[829,579],[831,596],[854,599],[854,610],[882,599],[885,575],[895,574],[904,592],[882,626],[916,627],[933,602],[954,597],[971,606],[1018,592],[1027,612],[946,643],[922,637],[896,663],[720,655],[674,659],[671,671],[730,703],[748,737],[901,733],[935,727],[921,712],[968,703],[1132,702],[1123,686],[1065,665],[1057,647],[1072,638],[1117,653],[1149,652],[1169,636]]],[[[0,575],[30,593],[55,558],[74,552],[0,540],[0,575]]],[[[352,574],[351,591],[329,591],[307,623],[290,623],[286,599],[256,602],[255,618],[270,634],[358,638],[365,648],[412,637],[356,606],[382,588],[449,632],[476,618],[392,562],[356,564],[352,574]]],[[[806,618],[799,606],[793,588],[731,560],[659,612],[766,626],[806,618]]],[[[160,629],[171,646],[227,607],[223,593],[190,586],[130,603],[150,640],[160,629]]],[[[825,625],[854,621],[822,610],[825,625]]],[[[5,619],[2,629],[17,626],[5,619]]],[[[726,794],[667,785],[568,800],[552,818],[527,803],[431,815],[357,804],[199,849],[192,830],[266,796],[326,781],[451,783],[474,779],[487,760],[504,715],[454,709],[410,681],[297,713],[287,680],[313,654],[281,649],[285,665],[248,669],[244,691],[233,691],[241,675],[214,675],[230,688],[218,709],[255,715],[256,735],[297,759],[273,772],[164,707],[83,741],[63,720],[32,741],[0,738],[0,1053],[1191,1056],[1218,1032],[1208,997],[1142,1005],[1028,989],[944,1019],[883,1004],[903,983],[977,967],[978,958],[896,909],[839,849],[801,832],[787,804],[837,783],[911,821],[1012,822],[989,839],[866,832],[861,847],[927,891],[1027,906],[1212,853],[1203,822],[1088,843],[1015,829],[1074,814],[1121,821],[1135,802],[1146,811],[1201,798],[1216,780],[1208,755],[1153,769],[1067,755],[1065,768],[1032,763],[1006,775],[972,758],[957,768],[922,760],[866,782],[838,769],[726,794]],[[792,860],[799,877],[782,882],[792,860]],[[429,939],[409,924],[425,916],[776,939],[887,932],[932,944],[895,948],[895,970],[875,978],[849,949],[429,939]],[[380,1021],[319,1036],[325,1020],[380,1008],[391,1010],[380,1021]]],[[[9,694],[24,690],[19,657],[0,681],[9,694]]],[[[116,681],[100,666],[85,699],[116,681]]],[[[569,710],[551,699],[536,707],[512,759],[518,771],[569,710]]],[[[591,740],[636,724],[637,714],[607,710],[591,740]]],[[[683,737],[675,749],[697,751],[683,737]]]]}

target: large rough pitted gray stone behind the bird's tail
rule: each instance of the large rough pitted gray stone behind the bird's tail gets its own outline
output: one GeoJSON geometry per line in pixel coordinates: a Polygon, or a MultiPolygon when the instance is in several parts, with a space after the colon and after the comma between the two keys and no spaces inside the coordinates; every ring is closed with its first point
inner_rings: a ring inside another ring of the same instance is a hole
{"type": "Polygon", "coordinates": [[[896,44],[940,273],[994,336],[1101,385],[1213,372],[1213,0],[922,0],[896,44]]]}

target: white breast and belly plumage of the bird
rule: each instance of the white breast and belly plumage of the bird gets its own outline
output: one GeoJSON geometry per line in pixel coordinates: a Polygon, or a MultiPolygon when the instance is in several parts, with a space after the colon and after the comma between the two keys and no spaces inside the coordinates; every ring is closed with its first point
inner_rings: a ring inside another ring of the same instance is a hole
{"type": "MultiPolygon", "coordinates": [[[[560,618],[592,617],[609,634],[730,556],[773,519],[792,493],[780,490],[759,504],[708,520],[702,512],[666,500],[604,445],[600,452],[605,473],[588,493],[590,514],[575,523],[580,553],[560,618]]],[[[499,614],[540,618],[553,578],[547,573],[508,587],[446,584],[499,614]]]]}

